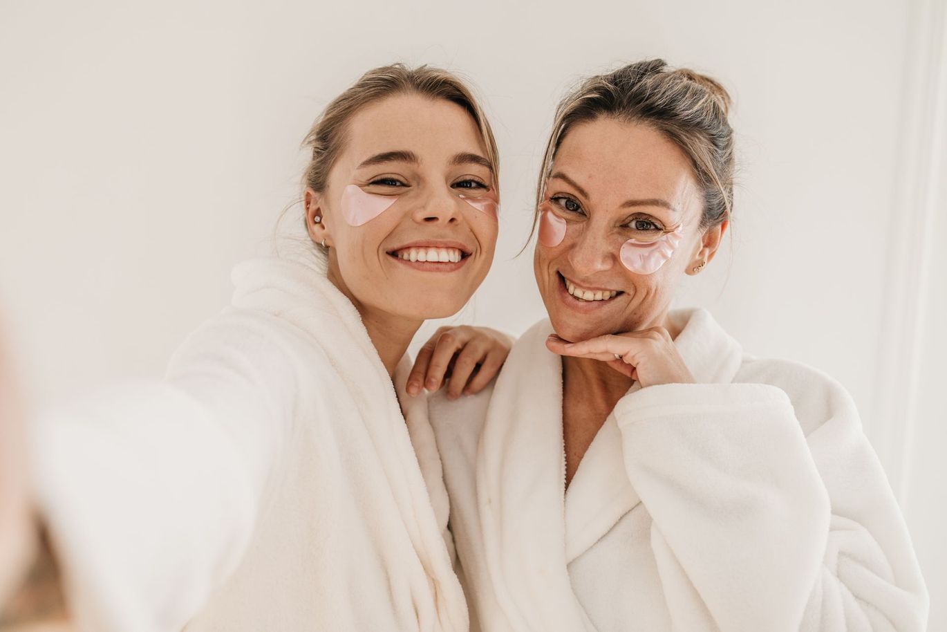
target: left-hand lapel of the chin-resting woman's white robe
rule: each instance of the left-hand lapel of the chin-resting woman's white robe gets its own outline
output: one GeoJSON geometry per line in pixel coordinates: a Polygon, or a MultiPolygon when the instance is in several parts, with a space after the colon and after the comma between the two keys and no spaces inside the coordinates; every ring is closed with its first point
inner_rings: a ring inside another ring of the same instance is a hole
{"type": "Polygon", "coordinates": [[[550,333],[544,320],[524,334],[493,388],[477,453],[477,504],[509,627],[577,632],[594,628],[565,566],[562,363],[545,348],[550,333]]]}

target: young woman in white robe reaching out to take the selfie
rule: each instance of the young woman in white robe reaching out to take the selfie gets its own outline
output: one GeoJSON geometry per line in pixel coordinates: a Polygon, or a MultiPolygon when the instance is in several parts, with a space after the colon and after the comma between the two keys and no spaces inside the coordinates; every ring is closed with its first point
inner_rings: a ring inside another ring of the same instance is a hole
{"type": "MultiPolygon", "coordinates": [[[[333,100],[307,144],[311,247],[241,263],[232,305],[164,380],[38,424],[38,513],[59,569],[45,576],[78,629],[468,627],[404,353],[490,267],[490,125],[456,77],[399,64],[333,100]]],[[[507,349],[474,343],[489,376],[507,349]]],[[[10,598],[4,622],[25,623],[28,604],[10,598]]]]}

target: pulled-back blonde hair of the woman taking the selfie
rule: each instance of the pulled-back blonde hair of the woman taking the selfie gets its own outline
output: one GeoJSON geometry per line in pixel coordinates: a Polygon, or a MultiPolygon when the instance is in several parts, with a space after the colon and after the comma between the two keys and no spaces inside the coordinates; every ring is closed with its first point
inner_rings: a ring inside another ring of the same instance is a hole
{"type": "Polygon", "coordinates": [[[303,188],[309,187],[316,192],[326,189],[329,172],[345,146],[351,117],[370,103],[402,94],[444,99],[464,108],[480,133],[487,151],[486,158],[493,169],[494,186],[497,186],[500,169],[496,140],[490,122],[467,84],[454,73],[441,68],[428,65],[410,68],[403,63],[392,63],[366,72],[348,90],[332,99],[315,119],[302,143],[312,152],[309,165],[303,172],[303,188]]]}

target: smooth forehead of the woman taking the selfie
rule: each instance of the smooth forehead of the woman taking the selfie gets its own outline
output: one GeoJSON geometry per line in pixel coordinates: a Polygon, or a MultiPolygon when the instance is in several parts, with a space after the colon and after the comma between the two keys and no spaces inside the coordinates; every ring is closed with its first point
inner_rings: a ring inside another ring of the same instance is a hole
{"type": "Polygon", "coordinates": [[[422,163],[456,153],[486,155],[473,117],[454,102],[420,95],[396,95],[362,108],[348,121],[340,162],[357,165],[369,155],[417,153],[422,163]]]}

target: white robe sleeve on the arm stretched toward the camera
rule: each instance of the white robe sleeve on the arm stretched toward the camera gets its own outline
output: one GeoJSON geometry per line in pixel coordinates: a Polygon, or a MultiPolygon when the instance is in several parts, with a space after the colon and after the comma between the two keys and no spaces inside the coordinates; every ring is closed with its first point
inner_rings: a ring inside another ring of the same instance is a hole
{"type": "Polygon", "coordinates": [[[229,311],[164,380],[32,426],[38,510],[81,630],[180,630],[236,567],[292,420],[295,371],[262,315],[229,311]]]}

